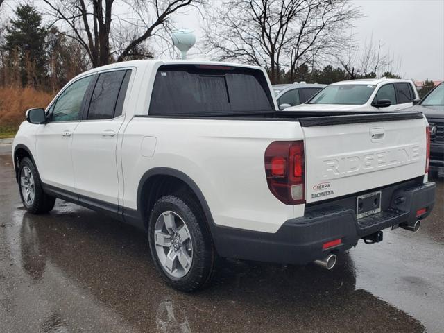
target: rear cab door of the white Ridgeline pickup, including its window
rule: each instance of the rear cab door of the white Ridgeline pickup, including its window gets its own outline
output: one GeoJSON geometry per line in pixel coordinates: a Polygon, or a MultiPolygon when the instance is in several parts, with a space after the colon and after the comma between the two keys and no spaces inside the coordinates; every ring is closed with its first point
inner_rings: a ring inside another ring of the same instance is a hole
{"type": "Polygon", "coordinates": [[[117,142],[124,121],[123,101],[130,75],[131,69],[97,74],[72,142],[79,200],[93,201],[107,210],[117,210],[118,205],[117,142]]]}

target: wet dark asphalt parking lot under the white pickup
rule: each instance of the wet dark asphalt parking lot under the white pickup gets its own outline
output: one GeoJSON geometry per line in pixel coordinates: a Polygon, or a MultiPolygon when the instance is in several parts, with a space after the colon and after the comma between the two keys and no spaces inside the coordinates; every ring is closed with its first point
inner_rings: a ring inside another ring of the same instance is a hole
{"type": "Polygon", "coordinates": [[[0,146],[0,332],[444,332],[444,179],[413,234],[332,271],[227,260],[197,293],[162,283],[142,232],[58,200],[27,214],[0,146]]]}

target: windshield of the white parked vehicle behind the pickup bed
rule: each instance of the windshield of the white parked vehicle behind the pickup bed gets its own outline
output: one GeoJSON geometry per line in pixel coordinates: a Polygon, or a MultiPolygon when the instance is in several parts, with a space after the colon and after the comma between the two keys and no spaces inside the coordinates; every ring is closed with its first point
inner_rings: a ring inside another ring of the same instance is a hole
{"type": "Polygon", "coordinates": [[[364,104],[375,87],[376,85],[329,85],[314,96],[308,104],[364,104]]]}

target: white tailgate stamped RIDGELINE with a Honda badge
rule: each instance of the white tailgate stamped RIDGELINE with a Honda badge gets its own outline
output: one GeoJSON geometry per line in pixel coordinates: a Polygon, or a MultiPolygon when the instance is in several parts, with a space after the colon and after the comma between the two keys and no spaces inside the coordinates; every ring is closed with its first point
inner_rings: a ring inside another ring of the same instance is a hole
{"type": "Polygon", "coordinates": [[[307,203],[425,173],[426,130],[420,113],[319,117],[300,123],[307,203]]]}

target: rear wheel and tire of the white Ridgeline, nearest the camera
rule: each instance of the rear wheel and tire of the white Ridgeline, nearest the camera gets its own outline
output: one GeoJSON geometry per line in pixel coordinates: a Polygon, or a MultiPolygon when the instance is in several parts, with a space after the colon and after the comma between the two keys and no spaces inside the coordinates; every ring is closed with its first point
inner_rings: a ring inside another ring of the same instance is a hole
{"type": "Polygon", "coordinates": [[[205,216],[191,196],[170,195],[157,200],[148,237],[155,267],[171,287],[194,291],[210,282],[216,253],[205,216]]]}

